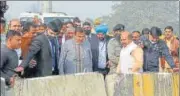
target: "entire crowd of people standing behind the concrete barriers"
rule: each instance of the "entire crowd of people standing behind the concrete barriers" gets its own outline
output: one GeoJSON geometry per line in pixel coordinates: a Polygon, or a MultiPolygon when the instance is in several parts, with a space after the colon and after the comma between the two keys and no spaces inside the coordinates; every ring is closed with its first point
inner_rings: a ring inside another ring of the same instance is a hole
{"type": "Polygon", "coordinates": [[[111,30],[105,24],[96,25],[93,33],[93,25],[79,18],[73,22],[56,19],[47,25],[34,18],[23,24],[12,19],[4,33],[5,20],[1,19],[1,77],[13,86],[16,76],[179,71],[180,41],[172,26],[142,32],[125,28],[116,24],[109,36],[111,30]]]}

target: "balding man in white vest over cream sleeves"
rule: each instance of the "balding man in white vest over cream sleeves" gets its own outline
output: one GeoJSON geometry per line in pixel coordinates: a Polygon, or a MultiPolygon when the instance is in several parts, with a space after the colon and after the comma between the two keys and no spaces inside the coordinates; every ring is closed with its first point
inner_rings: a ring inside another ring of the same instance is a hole
{"type": "Polygon", "coordinates": [[[132,41],[132,35],[130,32],[123,31],[120,37],[122,49],[116,72],[142,72],[143,50],[132,41]]]}

